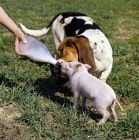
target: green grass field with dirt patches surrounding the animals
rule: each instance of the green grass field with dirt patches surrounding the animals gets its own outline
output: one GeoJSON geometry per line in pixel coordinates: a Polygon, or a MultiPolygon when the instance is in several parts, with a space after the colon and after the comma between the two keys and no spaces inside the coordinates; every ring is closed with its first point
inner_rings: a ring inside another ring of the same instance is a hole
{"type": "MultiPolygon", "coordinates": [[[[100,118],[88,101],[73,110],[72,92],[55,84],[50,65],[17,56],[13,35],[0,25],[0,139],[138,140],[139,139],[139,2],[136,0],[4,0],[1,6],[31,29],[45,27],[56,14],[78,11],[96,21],[108,37],[114,65],[108,84],[125,112],[119,122],[100,118]],[[97,120],[96,120],[97,119],[97,120]]],[[[37,37],[53,51],[52,36],[37,37]]]]}

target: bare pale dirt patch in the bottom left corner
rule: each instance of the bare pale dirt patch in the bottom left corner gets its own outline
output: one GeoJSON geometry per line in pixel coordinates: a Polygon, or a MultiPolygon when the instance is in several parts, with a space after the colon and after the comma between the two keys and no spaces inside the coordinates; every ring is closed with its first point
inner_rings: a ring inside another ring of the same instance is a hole
{"type": "Polygon", "coordinates": [[[0,107],[0,140],[19,140],[24,129],[16,121],[21,116],[16,103],[0,107]]]}

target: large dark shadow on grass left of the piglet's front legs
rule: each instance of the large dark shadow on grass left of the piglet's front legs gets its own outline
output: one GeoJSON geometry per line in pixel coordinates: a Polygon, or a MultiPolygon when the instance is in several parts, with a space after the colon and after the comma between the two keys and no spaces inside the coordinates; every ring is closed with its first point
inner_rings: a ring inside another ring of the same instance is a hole
{"type": "Polygon", "coordinates": [[[39,78],[35,81],[34,87],[38,94],[43,97],[52,100],[64,107],[73,105],[73,103],[67,98],[72,96],[70,89],[62,87],[66,79],[59,79],[58,76],[51,75],[48,78],[39,78]],[[58,94],[58,96],[56,95],[58,94]]]}

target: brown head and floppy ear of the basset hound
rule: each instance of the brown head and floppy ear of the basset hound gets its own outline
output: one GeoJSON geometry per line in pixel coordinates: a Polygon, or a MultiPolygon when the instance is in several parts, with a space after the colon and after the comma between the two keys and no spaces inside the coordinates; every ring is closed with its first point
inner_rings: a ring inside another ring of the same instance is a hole
{"type": "Polygon", "coordinates": [[[66,62],[79,61],[83,64],[89,64],[92,73],[96,70],[94,52],[90,46],[89,40],[85,37],[67,37],[58,47],[58,58],[66,62]]]}

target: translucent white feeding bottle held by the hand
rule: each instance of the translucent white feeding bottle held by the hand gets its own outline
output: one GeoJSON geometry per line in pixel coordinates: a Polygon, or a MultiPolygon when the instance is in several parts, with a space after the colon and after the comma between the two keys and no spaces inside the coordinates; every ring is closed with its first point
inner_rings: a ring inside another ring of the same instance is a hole
{"type": "Polygon", "coordinates": [[[26,36],[27,44],[20,42],[19,50],[30,59],[38,62],[46,62],[55,65],[55,60],[47,47],[31,36],[26,36]]]}

